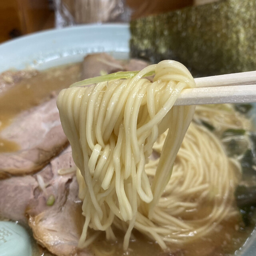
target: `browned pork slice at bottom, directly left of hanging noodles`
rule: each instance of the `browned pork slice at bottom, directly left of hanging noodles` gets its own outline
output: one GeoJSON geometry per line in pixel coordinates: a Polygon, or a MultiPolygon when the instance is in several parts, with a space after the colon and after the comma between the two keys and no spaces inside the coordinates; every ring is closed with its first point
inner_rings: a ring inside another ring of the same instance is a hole
{"type": "MultiPolygon", "coordinates": [[[[44,196],[42,192],[30,200],[27,207],[29,226],[37,242],[58,256],[88,256],[88,249],[79,250],[78,240],[82,234],[84,216],[82,216],[82,202],[78,198],[78,183],[73,174],[59,175],[61,168],[74,167],[71,148],[65,154],[51,161],[49,167],[52,178],[48,182],[44,196]],[[69,164],[70,163],[70,164],[69,164]],[[55,202],[47,206],[46,198],[54,196],[55,202]]],[[[40,173],[39,173],[40,175],[40,173]]]]}

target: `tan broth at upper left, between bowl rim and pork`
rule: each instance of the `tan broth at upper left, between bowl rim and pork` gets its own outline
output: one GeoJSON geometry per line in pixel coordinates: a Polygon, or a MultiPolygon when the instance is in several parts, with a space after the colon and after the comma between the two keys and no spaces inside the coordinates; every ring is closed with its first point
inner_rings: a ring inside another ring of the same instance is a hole
{"type": "MultiPolygon", "coordinates": [[[[12,122],[12,118],[33,106],[46,101],[58,92],[80,80],[81,63],[50,68],[24,78],[6,92],[0,94],[0,130],[12,122]]],[[[15,142],[0,137],[0,152],[14,152],[15,142]]]]}

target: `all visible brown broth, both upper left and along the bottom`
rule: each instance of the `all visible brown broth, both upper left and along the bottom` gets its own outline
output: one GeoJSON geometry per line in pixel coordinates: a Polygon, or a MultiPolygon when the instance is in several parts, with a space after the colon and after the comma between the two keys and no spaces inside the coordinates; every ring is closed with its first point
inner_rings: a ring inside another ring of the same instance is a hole
{"type": "MultiPolygon", "coordinates": [[[[36,106],[56,95],[60,89],[68,87],[80,80],[81,64],[71,64],[51,68],[39,72],[32,78],[25,78],[15,87],[0,96],[0,129],[12,122],[12,118],[22,110],[36,106]]],[[[12,152],[18,150],[18,145],[0,138],[0,152],[12,152]]],[[[207,212],[207,205],[205,212],[207,212]]],[[[196,210],[196,209],[195,209],[196,210]]],[[[81,224],[82,225],[82,224],[81,224]]],[[[102,233],[92,245],[92,255],[131,255],[131,256],[221,256],[233,255],[246,241],[254,226],[245,227],[240,215],[222,221],[216,225],[214,232],[203,238],[194,240],[189,244],[171,244],[169,252],[163,252],[156,242],[152,242],[138,231],[134,230],[131,236],[129,249],[123,251],[122,232],[118,233],[118,241],[106,241],[102,233]],[[104,254],[102,254],[104,252],[104,254]]],[[[41,248],[34,241],[33,256],[52,255],[46,249],[41,248]]]]}

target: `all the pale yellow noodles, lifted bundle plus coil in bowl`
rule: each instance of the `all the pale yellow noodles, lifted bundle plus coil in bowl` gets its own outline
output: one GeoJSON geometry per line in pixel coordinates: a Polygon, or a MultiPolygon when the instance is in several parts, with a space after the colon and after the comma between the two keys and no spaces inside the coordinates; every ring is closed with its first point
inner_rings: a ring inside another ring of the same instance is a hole
{"type": "Polygon", "coordinates": [[[185,140],[180,149],[195,107],[173,105],[184,88],[194,86],[182,64],[165,60],[132,78],[60,92],[57,105],[78,167],[79,196],[86,217],[79,247],[92,242],[86,239],[89,227],[105,231],[107,239],[113,240],[113,227],[117,227],[126,232],[124,249],[133,228],[165,249],[166,242],[206,234],[230,212],[229,185],[223,180],[233,172],[220,143],[192,125],[187,137],[194,141],[185,140]],[[142,78],[152,71],[153,82],[142,78]],[[164,140],[158,147],[160,158],[149,160],[160,136],[164,140]],[[215,160],[218,163],[211,164],[215,160]],[[205,172],[206,168],[210,171],[205,172]],[[194,180],[194,176],[198,178],[194,180]],[[189,212],[199,206],[193,200],[198,194],[201,202],[210,197],[212,207],[207,216],[190,220],[191,214],[184,214],[184,209],[189,212]],[[228,201],[225,206],[221,196],[228,201]]]}

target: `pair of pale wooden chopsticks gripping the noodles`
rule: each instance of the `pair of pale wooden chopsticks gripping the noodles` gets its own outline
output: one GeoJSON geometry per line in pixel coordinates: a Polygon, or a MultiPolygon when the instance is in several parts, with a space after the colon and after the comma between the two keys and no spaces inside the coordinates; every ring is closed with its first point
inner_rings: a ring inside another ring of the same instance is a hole
{"type": "Polygon", "coordinates": [[[196,88],[184,89],[178,105],[256,102],[256,71],[195,78],[196,88]]]}

